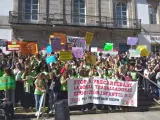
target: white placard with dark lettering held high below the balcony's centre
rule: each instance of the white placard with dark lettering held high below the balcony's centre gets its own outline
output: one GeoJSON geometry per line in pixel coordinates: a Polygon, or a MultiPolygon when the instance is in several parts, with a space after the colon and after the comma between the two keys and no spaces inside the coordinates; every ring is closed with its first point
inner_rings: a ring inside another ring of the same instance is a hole
{"type": "Polygon", "coordinates": [[[73,47],[86,48],[86,41],[83,37],[67,36],[67,43],[72,43],[73,47]]]}

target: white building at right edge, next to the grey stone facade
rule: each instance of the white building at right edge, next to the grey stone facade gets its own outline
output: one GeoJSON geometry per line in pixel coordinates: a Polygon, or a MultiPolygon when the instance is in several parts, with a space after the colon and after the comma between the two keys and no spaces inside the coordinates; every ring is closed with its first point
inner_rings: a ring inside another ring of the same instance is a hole
{"type": "Polygon", "coordinates": [[[160,0],[136,0],[137,18],[142,32],[139,44],[147,45],[150,52],[160,52],[160,0]]]}

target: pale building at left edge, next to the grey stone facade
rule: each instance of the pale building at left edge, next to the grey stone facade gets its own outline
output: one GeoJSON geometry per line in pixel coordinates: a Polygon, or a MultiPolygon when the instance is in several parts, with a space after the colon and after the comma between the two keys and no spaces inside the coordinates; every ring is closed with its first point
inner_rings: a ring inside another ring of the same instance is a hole
{"type": "MultiPolygon", "coordinates": [[[[12,28],[9,24],[9,11],[13,10],[13,0],[1,0],[0,2],[0,41],[12,40],[12,28]]],[[[1,47],[3,52],[6,51],[5,47],[1,47]]]]}

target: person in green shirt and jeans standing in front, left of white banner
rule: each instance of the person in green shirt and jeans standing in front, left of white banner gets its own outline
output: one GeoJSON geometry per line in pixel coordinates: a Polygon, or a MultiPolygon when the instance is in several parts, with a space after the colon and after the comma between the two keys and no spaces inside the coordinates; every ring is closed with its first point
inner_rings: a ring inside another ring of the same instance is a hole
{"type": "Polygon", "coordinates": [[[36,102],[36,116],[38,116],[39,113],[39,106],[40,106],[40,100],[43,93],[46,91],[46,83],[45,83],[45,74],[40,73],[35,81],[35,102],[36,102]]]}

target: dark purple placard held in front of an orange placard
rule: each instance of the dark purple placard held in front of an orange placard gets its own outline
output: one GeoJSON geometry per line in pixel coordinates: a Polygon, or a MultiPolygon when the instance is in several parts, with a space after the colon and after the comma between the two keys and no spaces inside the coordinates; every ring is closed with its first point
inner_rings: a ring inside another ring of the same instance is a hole
{"type": "Polygon", "coordinates": [[[61,40],[60,38],[53,38],[51,39],[51,46],[52,46],[52,51],[60,51],[61,50],[61,40]]]}

